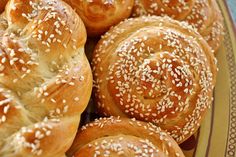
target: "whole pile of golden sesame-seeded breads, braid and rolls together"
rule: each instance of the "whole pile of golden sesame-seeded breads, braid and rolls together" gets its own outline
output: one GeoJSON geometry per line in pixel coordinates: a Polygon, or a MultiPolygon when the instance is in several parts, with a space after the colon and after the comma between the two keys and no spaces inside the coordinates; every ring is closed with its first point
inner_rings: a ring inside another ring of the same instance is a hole
{"type": "Polygon", "coordinates": [[[0,157],[184,156],[214,99],[215,0],[2,0],[0,12],[0,157]],[[89,100],[99,118],[80,126],[89,100]]]}

